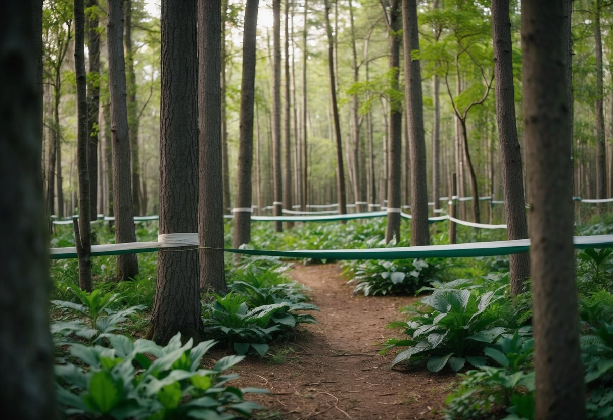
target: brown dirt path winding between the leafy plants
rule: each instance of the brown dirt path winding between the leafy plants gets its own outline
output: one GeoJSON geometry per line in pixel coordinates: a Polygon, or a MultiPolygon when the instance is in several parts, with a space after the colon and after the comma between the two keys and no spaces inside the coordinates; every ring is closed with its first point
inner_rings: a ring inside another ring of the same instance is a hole
{"type": "Polygon", "coordinates": [[[440,418],[455,375],[390,370],[394,355],[378,353],[378,344],[394,334],[386,324],[414,298],[354,296],[340,272],[338,264],[295,264],[291,276],[313,291],[319,323],[277,347],[272,361],[248,358],[238,364],[235,386],[270,390],[249,395],[269,409],[259,418],[440,418]]]}

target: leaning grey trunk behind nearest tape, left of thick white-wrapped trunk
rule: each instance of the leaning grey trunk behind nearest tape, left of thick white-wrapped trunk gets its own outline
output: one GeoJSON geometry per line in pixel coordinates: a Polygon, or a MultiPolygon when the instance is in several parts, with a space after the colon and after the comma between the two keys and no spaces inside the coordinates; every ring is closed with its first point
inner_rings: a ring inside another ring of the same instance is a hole
{"type": "MultiPolygon", "coordinates": [[[[115,213],[115,242],[117,244],[136,242],[134,208],[132,207],[128,108],[126,106],[126,66],[122,43],[122,1],[108,0],[107,2],[107,46],[109,47],[109,90],[113,144],[113,212],[115,213]]],[[[139,261],[136,255],[118,255],[118,279],[129,280],[137,274],[139,274],[139,261]]]]}

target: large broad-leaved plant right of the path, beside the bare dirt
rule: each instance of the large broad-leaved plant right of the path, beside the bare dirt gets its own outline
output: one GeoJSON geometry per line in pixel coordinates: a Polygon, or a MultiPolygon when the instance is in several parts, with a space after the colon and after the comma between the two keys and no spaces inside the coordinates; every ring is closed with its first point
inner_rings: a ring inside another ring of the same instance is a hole
{"type": "Polygon", "coordinates": [[[477,290],[435,290],[413,307],[409,321],[392,323],[402,326],[411,338],[388,340],[387,348],[406,347],[398,353],[392,367],[400,362],[427,359],[431,372],[449,366],[456,372],[466,361],[479,367],[485,364],[481,356],[485,343],[492,343],[506,332],[497,315],[501,290],[480,294],[477,290]]]}

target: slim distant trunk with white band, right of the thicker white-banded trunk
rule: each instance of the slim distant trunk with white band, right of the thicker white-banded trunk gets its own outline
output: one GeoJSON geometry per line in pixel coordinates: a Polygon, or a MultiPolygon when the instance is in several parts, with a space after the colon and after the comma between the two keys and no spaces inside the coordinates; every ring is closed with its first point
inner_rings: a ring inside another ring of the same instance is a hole
{"type": "MultiPolygon", "coordinates": [[[[273,0],[273,86],[272,86],[272,138],[273,138],[273,214],[283,215],[283,179],[281,178],[281,0],[273,0]]],[[[283,222],[275,220],[275,231],[283,231],[283,222]]]]}

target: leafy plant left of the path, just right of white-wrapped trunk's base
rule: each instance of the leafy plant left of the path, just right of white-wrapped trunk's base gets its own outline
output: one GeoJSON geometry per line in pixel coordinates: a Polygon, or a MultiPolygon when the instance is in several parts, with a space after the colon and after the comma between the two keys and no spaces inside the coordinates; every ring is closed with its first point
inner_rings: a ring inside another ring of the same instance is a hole
{"type": "Polygon", "coordinates": [[[230,343],[237,354],[255,352],[264,356],[268,343],[276,337],[291,332],[299,323],[316,322],[313,315],[297,311],[319,310],[304,302],[278,302],[249,309],[248,300],[248,296],[230,291],[205,303],[203,308],[207,336],[230,343]]]}

